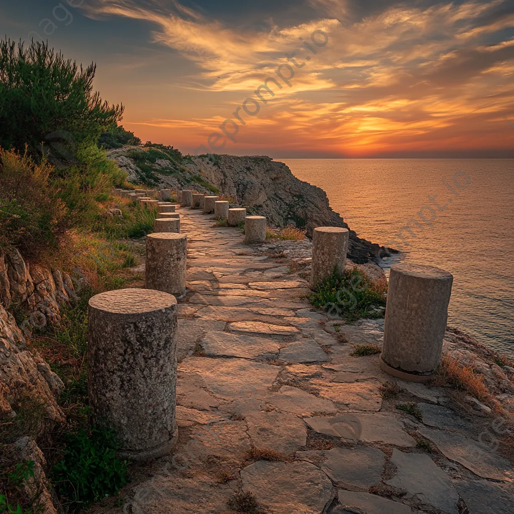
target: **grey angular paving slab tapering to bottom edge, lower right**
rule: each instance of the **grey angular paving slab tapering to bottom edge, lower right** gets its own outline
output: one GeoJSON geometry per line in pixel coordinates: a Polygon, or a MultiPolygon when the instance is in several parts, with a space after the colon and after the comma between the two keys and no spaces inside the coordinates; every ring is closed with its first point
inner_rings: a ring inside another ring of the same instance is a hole
{"type": "Polygon", "coordinates": [[[457,514],[457,491],[450,485],[448,475],[437,467],[428,455],[393,450],[391,462],[398,472],[387,483],[405,489],[421,503],[448,514],[457,514]]]}

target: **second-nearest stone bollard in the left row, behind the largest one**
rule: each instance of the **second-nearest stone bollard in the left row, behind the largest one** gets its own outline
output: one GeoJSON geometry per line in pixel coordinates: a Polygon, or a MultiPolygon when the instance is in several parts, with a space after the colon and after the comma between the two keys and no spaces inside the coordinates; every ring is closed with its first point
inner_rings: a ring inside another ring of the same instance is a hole
{"type": "Polygon", "coordinates": [[[181,296],[186,292],[187,237],[174,233],[146,236],[147,289],[181,296]]]}

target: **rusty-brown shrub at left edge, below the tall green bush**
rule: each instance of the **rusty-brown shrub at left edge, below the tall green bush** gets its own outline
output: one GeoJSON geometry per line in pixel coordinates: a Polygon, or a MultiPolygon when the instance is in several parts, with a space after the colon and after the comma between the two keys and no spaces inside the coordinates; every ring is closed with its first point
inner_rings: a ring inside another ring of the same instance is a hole
{"type": "Polygon", "coordinates": [[[0,246],[14,245],[28,258],[57,247],[70,227],[64,201],[49,184],[52,167],[0,149],[0,246]]]}

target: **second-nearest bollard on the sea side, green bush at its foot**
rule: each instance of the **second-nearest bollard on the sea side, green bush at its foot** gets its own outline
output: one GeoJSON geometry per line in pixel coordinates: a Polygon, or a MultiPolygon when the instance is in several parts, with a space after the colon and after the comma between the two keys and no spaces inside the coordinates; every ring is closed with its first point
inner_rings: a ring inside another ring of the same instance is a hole
{"type": "Polygon", "coordinates": [[[348,236],[341,227],[317,227],[313,231],[313,267],[310,287],[315,288],[334,272],[342,273],[346,266],[348,236]]]}

